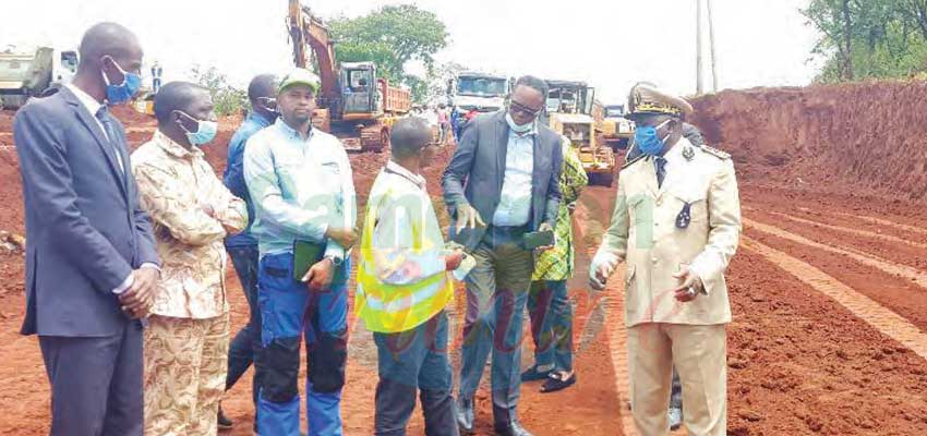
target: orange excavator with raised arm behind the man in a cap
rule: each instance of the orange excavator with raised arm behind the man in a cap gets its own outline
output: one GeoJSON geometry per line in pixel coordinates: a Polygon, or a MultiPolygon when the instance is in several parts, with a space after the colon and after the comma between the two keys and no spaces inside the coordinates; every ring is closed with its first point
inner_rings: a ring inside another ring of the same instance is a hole
{"type": "Polygon", "coordinates": [[[289,0],[287,27],[293,44],[293,63],[318,66],[321,86],[313,125],[341,140],[348,150],[382,152],[389,144],[393,123],[411,108],[408,90],[377,78],[373,62],[335,64],[335,43],[325,24],[300,0],[289,0]]]}

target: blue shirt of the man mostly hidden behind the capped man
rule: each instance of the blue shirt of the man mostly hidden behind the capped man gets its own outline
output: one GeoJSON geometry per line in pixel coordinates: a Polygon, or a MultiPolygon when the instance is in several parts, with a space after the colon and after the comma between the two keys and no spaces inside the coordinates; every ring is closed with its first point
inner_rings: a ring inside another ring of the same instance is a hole
{"type": "Polygon", "coordinates": [[[229,156],[226,164],[226,171],[222,173],[222,182],[231,191],[232,195],[243,199],[248,204],[249,220],[244,231],[226,238],[227,246],[257,245],[257,239],[251,234],[251,226],[254,223],[254,205],[251,203],[248,184],[244,183],[244,146],[252,135],[268,125],[270,125],[269,120],[261,113],[251,111],[229,142],[229,156]]]}

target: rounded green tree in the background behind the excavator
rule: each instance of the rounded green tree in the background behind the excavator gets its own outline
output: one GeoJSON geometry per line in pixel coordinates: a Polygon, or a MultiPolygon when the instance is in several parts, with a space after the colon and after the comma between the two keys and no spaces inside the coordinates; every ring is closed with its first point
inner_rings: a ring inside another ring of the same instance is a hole
{"type": "Polygon", "coordinates": [[[447,29],[433,12],[412,4],[387,5],[357,19],[338,17],[328,23],[338,62],[373,61],[382,77],[412,89],[412,98],[428,96],[434,76],[434,55],[447,47],[447,29]],[[421,61],[425,80],[406,74],[409,61],[421,61]]]}

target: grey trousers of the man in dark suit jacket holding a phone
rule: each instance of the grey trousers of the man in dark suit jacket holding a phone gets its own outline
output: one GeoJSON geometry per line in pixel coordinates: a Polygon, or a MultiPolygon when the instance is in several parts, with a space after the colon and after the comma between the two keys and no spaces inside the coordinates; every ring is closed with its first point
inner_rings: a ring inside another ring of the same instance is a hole
{"type": "Polygon", "coordinates": [[[525,230],[491,226],[467,276],[460,396],[473,398],[492,352],[493,416],[499,425],[516,417],[520,397],[522,319],[534,269],[533,254],[521,245],[525,230]]]}

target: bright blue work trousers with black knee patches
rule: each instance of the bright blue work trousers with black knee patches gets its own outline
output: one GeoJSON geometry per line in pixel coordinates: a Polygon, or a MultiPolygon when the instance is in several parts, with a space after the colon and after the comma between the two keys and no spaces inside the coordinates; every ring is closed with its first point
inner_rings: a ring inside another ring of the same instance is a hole
{"type": "MultiPolygon", "coordinates": [[[[346,261],[344,268],[350,268],[346,261]]],[[[261,258],[257,300],[264,377],[257,427],[262,435],[299,436],[300,343],[306,343],[306,417],[312,436],[340,436],[341,387],[348,360],[348,289],[310,290],[293,280],[292,253],[261,258]]],[[[345,275],[349,276],[348,274],[345,275]]]]}

